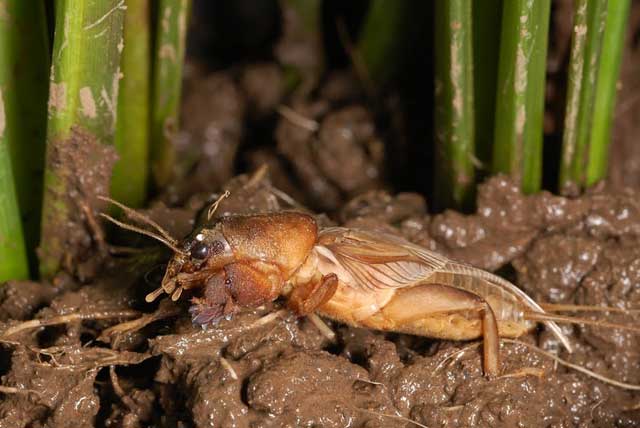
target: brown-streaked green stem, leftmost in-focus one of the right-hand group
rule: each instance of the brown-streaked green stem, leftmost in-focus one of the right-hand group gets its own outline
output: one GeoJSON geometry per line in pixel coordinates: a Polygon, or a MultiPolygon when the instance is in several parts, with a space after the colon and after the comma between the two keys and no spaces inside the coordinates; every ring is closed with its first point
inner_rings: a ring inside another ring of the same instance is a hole
{"type": "Polygon", "coordinates": [[[474,182],[471,2],[436,1],[436,198],[468,205],[474,182]]]}

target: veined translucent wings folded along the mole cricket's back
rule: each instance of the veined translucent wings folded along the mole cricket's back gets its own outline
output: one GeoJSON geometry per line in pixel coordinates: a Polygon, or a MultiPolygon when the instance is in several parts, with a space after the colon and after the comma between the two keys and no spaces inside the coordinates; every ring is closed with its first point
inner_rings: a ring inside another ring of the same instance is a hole
{"type": "MultiPolygon", "coordinates": [[[[323,270],[337,273],[351,287],[375,291],[436,283],[472,292],[490,302],[503,302],[505,307],[544,313],[509,281],[386,233],[327,228],[320,232],[315,250],[325,265],[323,270]]],[[[545,325],[571,351],[558,325],[550,321],[545,325]]]]}

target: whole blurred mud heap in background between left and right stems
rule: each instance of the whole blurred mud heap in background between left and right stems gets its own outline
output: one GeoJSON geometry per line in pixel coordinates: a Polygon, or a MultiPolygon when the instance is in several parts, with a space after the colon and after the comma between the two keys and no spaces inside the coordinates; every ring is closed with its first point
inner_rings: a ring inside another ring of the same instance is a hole
{"type": "Polygon", "coordinates": [[[296,63],[305,72],[296,90],[274,62],[215,72],[188,64],[175,179],[161,196],[167,205],[218,189],[238,165],[268,165],[278,188],[321,211],[385,187],[385,140],[399,133],[394,125],[375,120],[381,113],[351,73],[332,73],[310,93],[315,66],[288,60],[305,63],[296,63]]]}

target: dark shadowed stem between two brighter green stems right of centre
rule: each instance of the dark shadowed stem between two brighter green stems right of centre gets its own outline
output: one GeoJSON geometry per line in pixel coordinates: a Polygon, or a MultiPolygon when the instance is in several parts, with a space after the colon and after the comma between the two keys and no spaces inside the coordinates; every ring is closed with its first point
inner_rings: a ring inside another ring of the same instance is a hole
{"type": "Polygon", "coordinates": [[[473,83],[476,155],[488,172],[493,150],[502,0],[473,2],[473,83]]]}

